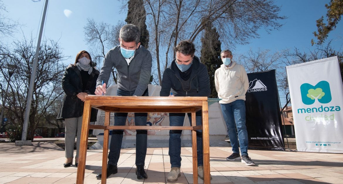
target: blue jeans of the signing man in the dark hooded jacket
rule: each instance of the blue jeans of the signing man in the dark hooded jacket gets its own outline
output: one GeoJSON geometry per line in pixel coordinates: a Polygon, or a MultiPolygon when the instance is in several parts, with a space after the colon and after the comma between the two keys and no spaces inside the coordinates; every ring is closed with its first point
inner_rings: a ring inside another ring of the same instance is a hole
{"type": "MultiPolygon", "coordinates": [[[[169,113],[170,126],[183,126],[185,113],[169,113]]],[[[189,122],[191,123],[191,114],[188,113],[189,122]]],[[[197,125],[201,125],[201,115],[196,116],[197,125]]],[[[181,167],[181,133],[182,130],[169,131],[169,157],[171,167],[181,167]]],[[[197,155],[198,166],[203,165],[202,159],[202,131],[197,130],[197,155]]]]}

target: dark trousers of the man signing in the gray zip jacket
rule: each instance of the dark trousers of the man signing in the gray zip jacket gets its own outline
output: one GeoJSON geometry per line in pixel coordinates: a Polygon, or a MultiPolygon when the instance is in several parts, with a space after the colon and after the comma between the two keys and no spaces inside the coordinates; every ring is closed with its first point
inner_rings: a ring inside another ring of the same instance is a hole
{"type": "MultiPolygon", "coordinates": [[[[134,91],[117,90],[118,96],[132,96],[134,91]]],[[[148,96],[146,89],[142,96],[148,96]]],[[[125,126],[128,113],[115,113],[114,126],[125,126]]],[[[134,122],[136,126],[146,126],[147,113],[134,113],[134,122]]],[[[120,156],[121,142],[123,140],[123,130],[113,130],[111,144],[109,146],[108,163],[116,165],[120,156]]],[[[146,155],[146,130],[137,130],[136,133],[136,166],[145,165],[146,155]]]]}

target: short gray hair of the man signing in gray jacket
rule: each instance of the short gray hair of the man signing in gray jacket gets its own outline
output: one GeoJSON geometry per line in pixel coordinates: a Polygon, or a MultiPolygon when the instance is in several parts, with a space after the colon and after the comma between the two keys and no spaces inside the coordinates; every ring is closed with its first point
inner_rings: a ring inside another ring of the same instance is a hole
{"type": "Polygon", "coordinates": [[[141,31],[139,30],[139,27],[133,24],[127,24],[121,27],[120,32],[119,32],[120,40],[124,40],[125,42],[134,41],[136,44],[138,44],[140,37],[141,37],[141,31]]]}

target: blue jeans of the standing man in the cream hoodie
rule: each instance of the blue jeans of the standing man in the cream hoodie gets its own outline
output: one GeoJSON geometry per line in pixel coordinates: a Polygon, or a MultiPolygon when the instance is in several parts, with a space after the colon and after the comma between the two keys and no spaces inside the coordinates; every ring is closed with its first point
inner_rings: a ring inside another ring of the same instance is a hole
{"type": "Polygon", "coordinates": [[[245,103],[244,100],[236,100],[228,104],[220,104],[224,120],[226,122],[227,133],[233,153],[248,155],[248,132],[245,125],[245,103]],[[236,133],[238,131],[238,137],[236,133]]]}

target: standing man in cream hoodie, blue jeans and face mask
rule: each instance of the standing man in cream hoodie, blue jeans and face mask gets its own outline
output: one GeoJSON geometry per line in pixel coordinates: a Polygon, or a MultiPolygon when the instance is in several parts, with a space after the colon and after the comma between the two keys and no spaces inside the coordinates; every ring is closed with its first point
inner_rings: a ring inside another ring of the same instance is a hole
{"type": "Polygon", "coordinates": [[[226,160],[241,159],[242,163],[254,166],[255,163],[248,156],[248,132],[245,125],[245,93],[249,88],[249,80],[244,67],[232,61],[232,52],[223,50],[221,52],[223,64],[215,71],[215,88],[222,113],[227,126],[232,146],[232,155],[226,160]],[[238,137],[236,133],[238,131],[238,137]],[[239,148],[242,158],[239,155],[239,148]]]}

